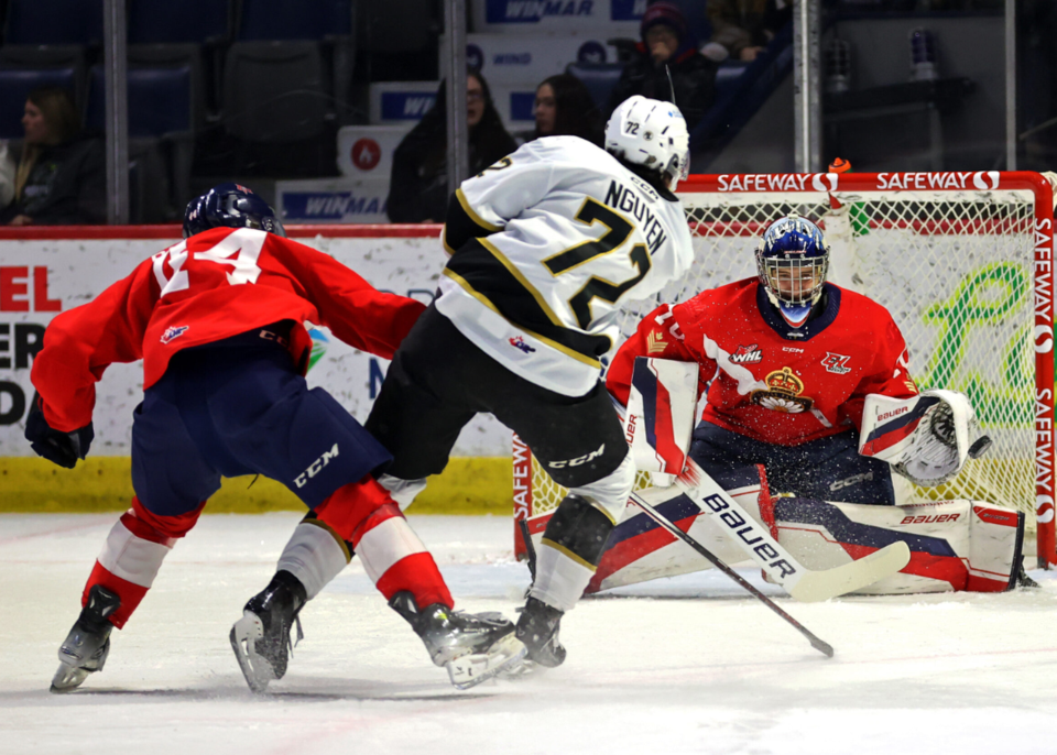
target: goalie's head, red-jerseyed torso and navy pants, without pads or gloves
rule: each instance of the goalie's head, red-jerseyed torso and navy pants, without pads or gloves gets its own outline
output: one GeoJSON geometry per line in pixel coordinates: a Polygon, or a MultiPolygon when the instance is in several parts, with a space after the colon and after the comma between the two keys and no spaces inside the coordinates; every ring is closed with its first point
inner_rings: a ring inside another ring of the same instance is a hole
{"type": "Polygon", "coordinates": [[[859,455],[871,393],[917,394],[906,344],[880,304],[828,283],[815,223],[772,223],[759,277],[662,305],[621,346],[607,386],[628,403],[635,357],[696,361],[708,403],[690,457],[710,474],[762,463],[771,490],[848,503],[895,503],[889,464],[859,455]]]}

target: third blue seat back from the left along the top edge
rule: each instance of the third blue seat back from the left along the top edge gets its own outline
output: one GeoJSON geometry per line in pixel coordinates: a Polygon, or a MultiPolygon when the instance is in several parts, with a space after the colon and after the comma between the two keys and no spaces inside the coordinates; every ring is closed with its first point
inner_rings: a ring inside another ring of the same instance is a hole
{"type": "Polygon", "coordinates": [[[352,0],[242,0],[241,41],[322,40],[352,33],[352,0]]]}

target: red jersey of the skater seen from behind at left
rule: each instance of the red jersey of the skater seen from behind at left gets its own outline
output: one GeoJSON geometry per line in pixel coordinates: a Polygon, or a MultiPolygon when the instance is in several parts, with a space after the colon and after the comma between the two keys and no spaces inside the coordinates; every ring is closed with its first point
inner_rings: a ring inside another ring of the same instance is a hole
{"type": "Polygon", "coordinates": [[[356,349],[391,359],[425,306],[375,291],[326,254],[249,228],[215,228],[140,263],[44,332],[31,378],[44,418],[70,431],[91,420],[95,384],[115,362],[143,359],[143,387],[182,349],[280,320],[295,363],[310,349],[305,320],[356,349]]]}

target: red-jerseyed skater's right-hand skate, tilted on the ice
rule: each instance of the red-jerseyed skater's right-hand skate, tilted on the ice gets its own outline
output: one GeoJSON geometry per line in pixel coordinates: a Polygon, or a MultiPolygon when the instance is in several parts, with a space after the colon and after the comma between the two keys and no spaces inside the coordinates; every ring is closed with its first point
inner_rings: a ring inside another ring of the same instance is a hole
{"type": "Polygon", "coordinates": [[[514,637],[514,625],[500,613],[464,613],[440,603],[418,611],[414,595],[406,591],[397,592],[389,604],[422,637],[433,663],[448,670],[456,689],[514,676],[523,665],[525,647],[514,637]]]}

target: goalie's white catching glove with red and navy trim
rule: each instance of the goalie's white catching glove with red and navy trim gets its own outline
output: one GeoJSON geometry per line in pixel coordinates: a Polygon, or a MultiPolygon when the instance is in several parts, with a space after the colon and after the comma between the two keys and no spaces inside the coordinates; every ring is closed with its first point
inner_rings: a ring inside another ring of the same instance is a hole
{"type": "Polygon", "coordinates": [[[929,390],[913,398],[873,393],[863,405],[859,453],[889,462],[916,485],[947,482],[990,447],[969,398],[958,391],[929,390]]]}

